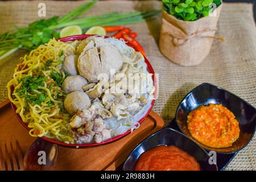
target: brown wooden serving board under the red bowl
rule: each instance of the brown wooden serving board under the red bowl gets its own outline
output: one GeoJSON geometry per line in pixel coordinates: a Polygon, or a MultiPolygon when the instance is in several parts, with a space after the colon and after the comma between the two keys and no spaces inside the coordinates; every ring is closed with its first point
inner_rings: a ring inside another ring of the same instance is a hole
{"type": "MultiPolygon", "coordinates": [[[[0,103],[0,125],[0,147],[17,139],[25,154],[35,138],[20,125],[9,100],[0,103]]],[[[151,111],[137,130],[116,142],[92,148],[59,147],[55,170],[115,170],[137,144],[163,126],[162,117],[151,111]]]]}

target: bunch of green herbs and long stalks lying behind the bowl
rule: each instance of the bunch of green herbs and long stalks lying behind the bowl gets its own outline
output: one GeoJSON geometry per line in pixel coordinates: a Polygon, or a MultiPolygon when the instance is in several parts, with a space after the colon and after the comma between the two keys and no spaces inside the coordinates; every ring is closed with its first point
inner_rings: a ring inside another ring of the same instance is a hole
{"type": "MultiPolygon", "coordinates": [[[[19,48],[30,51],[37,48],[40,44],[49,42],[49,40],[52,38],[59,39],[58,28],[78,25],[82,29],[86,29],[93,26],[117,26],[121,24],[138,23],[144,22],[145,19],[160,13],[160,11],[126,14],[112,12],[108,14],[75,19],[77,16],[80,16],[88,11],[93,5],[95,5],[97,1],[98,0],[86,2],[64,15],[62,18],[53,16],[49,19],[40,19],[36,22],[28,24],[28,27],[18,28],[13,32],[5,32],[4,34],[0,35],[0,60],[11,55],[19,48]]],[[[58,61],[58,63],[61,62],[62,60],[58,61]]],[[[58,80],[57,85],[60,85],[60,83],[61,81],[58,80]]]]}

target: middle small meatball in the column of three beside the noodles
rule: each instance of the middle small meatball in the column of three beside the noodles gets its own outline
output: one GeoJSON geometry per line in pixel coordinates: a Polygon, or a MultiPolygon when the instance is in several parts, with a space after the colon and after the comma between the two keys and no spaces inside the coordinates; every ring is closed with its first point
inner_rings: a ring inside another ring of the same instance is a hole
{"type": "Polygon", "coordinates": [[[86,84],[88,84],[87,80],[80,75],[68,76],[63,81],[62,89],[66,93],[70,93],[73,91],[84,91],[82,89],[82,86],[86,84]]]}

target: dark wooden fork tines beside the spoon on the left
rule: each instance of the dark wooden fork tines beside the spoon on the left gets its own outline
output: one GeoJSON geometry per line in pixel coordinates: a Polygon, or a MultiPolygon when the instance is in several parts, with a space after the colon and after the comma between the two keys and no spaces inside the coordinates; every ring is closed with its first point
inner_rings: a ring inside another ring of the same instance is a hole
{"type": "Polygon", "coordinates": [[[0,171],[23,171],[23,152],[20,148],[18,140],[15,140],[16,150],[10,142],[9,146],[5,143],[3,155],[2,147],[0,147],[0,171]],[[8,150],[9,148],[9,150],[8,150]]]}

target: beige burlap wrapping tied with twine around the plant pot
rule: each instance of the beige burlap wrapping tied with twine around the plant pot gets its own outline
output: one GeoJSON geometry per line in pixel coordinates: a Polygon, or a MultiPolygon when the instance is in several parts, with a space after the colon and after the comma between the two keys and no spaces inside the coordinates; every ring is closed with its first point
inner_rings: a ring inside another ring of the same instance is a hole
{"type": "Polygon", "coordinates": [[[200,64],[210,52],[217,30],[217,22],[222,4],[211,16],[196,21],[183,21],[162,11],[162,28],[160,31],[160,51],[172,62],[192,66],[200,64]]]}

